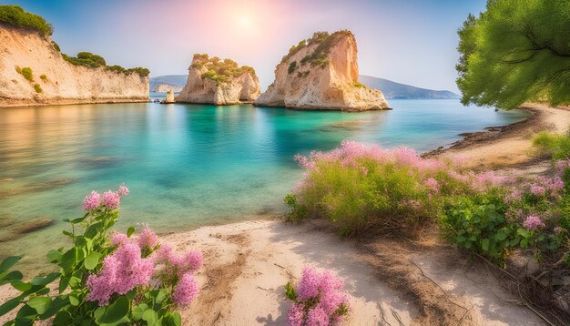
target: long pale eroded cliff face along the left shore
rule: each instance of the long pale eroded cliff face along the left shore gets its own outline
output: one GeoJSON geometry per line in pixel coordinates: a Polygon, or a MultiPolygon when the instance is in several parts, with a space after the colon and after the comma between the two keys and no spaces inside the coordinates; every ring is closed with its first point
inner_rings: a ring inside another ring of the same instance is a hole
{"type": "Polygon", "coordinates": [[[148,101],[148,76],[74,66],[48,37],[0,25],[0,107],[141,101],[148,101]]]}

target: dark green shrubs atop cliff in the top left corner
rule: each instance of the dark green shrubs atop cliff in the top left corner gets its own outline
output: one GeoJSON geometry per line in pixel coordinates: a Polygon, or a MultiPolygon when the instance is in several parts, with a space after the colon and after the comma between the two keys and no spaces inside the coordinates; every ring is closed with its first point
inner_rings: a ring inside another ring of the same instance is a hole
{"type": "Polygon", "coordinates": [[[39,15],[27,13],[19,5],[0,5],[0,23],[17,28],[36,30],[42,36],[51,36],[54,27],[39,15]]]}

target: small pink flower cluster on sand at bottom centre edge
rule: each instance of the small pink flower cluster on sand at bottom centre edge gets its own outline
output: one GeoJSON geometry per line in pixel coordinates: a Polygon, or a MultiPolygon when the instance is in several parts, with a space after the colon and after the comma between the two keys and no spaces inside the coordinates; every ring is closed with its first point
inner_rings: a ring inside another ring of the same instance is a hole
{"type": "Polygon", "coordinates": [[[319,271],[305,267],[297,287],[290,282],[285,294],[293,301],[288,312],[291,326],[338,325],[349,313],[349,296],[342,292],[342,280],[330,270],[319,271]]]}

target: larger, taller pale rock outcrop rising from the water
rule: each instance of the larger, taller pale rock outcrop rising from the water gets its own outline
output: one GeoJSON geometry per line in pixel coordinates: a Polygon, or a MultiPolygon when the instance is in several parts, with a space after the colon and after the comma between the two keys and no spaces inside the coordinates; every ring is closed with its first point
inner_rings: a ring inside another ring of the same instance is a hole
{"type": "Polygon", "coordinates": [[[290,48],[260,107],[363,111],[389,108],[382,92],[358,80],[356,39],[349,31],[315,33],[290,48]]]}

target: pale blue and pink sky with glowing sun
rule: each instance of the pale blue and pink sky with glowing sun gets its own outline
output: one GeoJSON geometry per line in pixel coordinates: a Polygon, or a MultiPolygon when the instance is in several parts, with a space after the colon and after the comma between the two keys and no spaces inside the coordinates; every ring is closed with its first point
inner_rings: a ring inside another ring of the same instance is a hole
{"type": "Polygon", "coordinates": [[[88,51],[151,76],[186,75],[194,53],[253,66],[265,90],[290,46],[349,29],[361,75],[458,93],[456,34],[485,0],[2,1],[42,15],[62,52],[88,51]]]}

